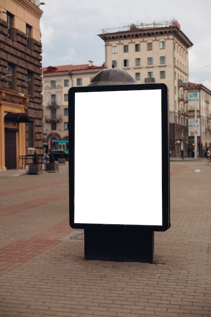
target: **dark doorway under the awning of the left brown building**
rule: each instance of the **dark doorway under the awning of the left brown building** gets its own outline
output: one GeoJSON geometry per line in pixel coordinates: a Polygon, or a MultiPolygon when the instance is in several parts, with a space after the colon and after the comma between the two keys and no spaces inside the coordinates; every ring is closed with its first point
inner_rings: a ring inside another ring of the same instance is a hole
{"type": "Polygon", "coordinates": [[[7,170],[17,168],[16,129],[5,129],[5,166],[7,170]]]}

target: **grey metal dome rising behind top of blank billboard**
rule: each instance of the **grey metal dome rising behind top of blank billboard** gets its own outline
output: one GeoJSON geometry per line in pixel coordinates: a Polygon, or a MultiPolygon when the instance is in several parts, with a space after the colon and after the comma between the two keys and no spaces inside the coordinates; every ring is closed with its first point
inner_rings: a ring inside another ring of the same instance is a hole
{"type": "Polygon", "coordinates": [[[121,68],[106,68],[99,71],[87,86],[136,85],[135,78],[121,68]]]}

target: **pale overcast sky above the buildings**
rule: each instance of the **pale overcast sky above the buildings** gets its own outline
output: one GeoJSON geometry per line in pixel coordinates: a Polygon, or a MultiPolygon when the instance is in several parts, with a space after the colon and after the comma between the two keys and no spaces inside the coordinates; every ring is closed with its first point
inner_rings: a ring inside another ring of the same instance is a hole
{"type": "Polygon", "coordinates": [[[189,82],[211,90],[211,0],[44,0],[43,67],[105,61],[102,29],[176,19],[193,43],[189,82]]]}

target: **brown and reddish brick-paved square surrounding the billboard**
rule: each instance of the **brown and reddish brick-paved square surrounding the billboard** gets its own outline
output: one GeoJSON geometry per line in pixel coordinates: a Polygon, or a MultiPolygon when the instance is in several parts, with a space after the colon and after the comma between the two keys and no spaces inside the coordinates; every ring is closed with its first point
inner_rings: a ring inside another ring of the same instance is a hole
{"type": "Polygon", "coordinates": [[[153,264],[84,260],[83,230],[69,226],[68,164],[4,172],[0,316],[211,316],[211,164],[170,166],[171,228],[155,232],[153,264]]]}

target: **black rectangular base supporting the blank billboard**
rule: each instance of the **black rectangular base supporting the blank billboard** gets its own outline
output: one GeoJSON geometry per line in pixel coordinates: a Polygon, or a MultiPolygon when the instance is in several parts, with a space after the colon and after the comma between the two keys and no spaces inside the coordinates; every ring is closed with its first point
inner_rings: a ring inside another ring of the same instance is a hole
{"type": "Polygon", "coordinates": [[[84,231],[85,260],[153,263],[154,231],[84,231]]]}

